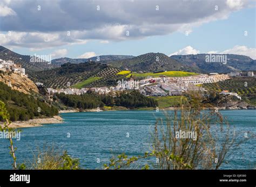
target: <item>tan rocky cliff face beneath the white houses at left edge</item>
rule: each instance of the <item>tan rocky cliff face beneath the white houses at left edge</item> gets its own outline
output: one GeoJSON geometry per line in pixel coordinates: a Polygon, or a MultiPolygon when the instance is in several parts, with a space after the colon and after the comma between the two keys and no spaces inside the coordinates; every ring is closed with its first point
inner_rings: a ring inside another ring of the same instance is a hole
{"type": "Polygon", "coordinates": [[[31,92],[39,92],[37,86],[28,77],[21,76],[16,73],[0,73],[0,81],[9,85],[11,89],[29,94],[31,92]]]}

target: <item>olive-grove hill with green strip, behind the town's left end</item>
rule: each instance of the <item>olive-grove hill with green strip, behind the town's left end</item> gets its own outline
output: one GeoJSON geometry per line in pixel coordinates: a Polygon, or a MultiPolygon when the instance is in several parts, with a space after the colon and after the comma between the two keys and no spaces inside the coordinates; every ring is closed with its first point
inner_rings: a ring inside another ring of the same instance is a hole
{"type": "Polygon", "coordinates": [[[101,87],[116,84],[116,79],[123,76],[117,75],[119,71],[121,70],[96,62],[65,63],[59,68],[37,71],[32,74],[31,79],[44,83],[46,88],[101,87]],[[92,82],[86,81],[91,77],[99,78],[93,79],[92,82]]]}

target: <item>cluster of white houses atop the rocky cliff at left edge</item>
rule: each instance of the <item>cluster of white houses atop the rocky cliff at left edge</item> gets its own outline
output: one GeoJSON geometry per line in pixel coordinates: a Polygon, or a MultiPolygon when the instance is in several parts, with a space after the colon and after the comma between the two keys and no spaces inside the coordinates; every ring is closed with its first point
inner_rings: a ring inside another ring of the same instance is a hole
{"type": "Polygon", "coordinates": [[[21,76],[26,76],[25,75],[25,68],[22,68],[21,63],[14,63],[11,60],[5,61],[0,59],[0,70],[4,72],[12,72],[12,73],[17,73],[21,76]]]}

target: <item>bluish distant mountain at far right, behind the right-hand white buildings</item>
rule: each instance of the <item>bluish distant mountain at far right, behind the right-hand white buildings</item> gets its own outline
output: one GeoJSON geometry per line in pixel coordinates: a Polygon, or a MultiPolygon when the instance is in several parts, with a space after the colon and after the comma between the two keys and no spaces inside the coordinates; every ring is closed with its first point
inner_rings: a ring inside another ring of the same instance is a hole
{"type": "Polygon", "coordinates": [[[172,55],[170,59],[177,60],[181,64],[190,66],[191,68],[200,68],[205,73],[256,70],[256,61],[249,56],[226,54],[227,63],[224,64],[221,62],[206,62],[206,55],[209,54],[172,55]]]}

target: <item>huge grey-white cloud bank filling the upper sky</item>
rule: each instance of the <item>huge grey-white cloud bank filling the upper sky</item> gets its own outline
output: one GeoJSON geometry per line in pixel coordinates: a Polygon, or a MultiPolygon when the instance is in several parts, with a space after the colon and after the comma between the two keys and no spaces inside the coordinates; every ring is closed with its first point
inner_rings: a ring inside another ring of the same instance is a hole
{"type": "Polygon", "coordinates": [[[147,3],[113,1],[110,6],[110,2],[100,1],[98,12],[98,1],[42,1],[43,9],[38,13],[35,10],[37,1],[2,0],[0,14],[4,17],[1,17],[1,31],[25,34],[19,40],[0,40],[1,44],[8,47],[49,48],[84,44],[88,40],[99,40],[106,44],[107,41],[140,39],[176,31],[191,33],[194,27],[226,19],[233,11],[250,4],[240,0],[215,0],[214,4],[212,1],[152,0],[147,3]],[[155,9],[156,4],[159,11],[155,9]],[[218,11],[214,10],[215,4],[219,6],[218,11]],[[14,14],[16,16],[11,16],[14,14]],[[70,36],[67,31],[71,32],[70,36]],[[126,35],[127,31],[129,36],[126,35]]]}

